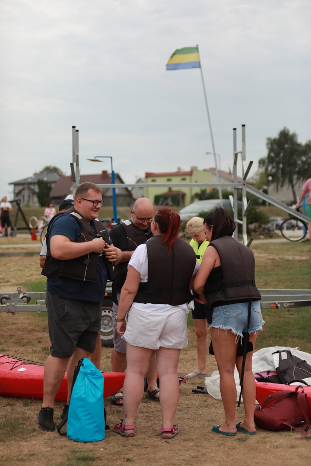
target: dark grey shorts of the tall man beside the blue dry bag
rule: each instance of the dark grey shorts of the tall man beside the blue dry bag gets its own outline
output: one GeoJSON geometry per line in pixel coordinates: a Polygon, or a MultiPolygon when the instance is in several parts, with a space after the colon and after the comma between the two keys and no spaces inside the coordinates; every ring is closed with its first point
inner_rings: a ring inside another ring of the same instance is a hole
{"type": "Polygon", "coordinates": [[[51,356],[69,358],[80,348],[93,353],[102,322],[100,302],[71,300],[46,292],[51,356]]]}

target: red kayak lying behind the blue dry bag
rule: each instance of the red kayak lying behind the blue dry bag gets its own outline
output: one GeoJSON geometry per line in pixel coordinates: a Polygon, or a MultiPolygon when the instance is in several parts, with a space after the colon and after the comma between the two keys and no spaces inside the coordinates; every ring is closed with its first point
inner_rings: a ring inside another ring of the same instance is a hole
{"type": "MultiPolygon", "coordinates": [[[[43,399],[44,366],[0,354],[0,396],[43,399]]],[[[122,388],[124,372],[102,372],[104,377],[104,398],[110,397],[122,388]]],[[[65,374],[55,401],[67,400],[67,374],[65,374]]]]}

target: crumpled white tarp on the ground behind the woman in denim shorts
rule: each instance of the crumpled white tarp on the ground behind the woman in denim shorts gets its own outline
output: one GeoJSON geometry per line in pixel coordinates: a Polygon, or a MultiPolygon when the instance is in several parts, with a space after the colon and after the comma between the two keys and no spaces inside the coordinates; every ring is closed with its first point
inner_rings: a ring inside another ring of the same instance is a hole
{"type": "MultiPolygon", "coordinates": [[[[252,368],[253,373],[262,372],[264,370],[276,370],[276,366],[273,360],[272,353],[277,350],[290,350],[293,356],[304,359],[308,364],[311,365],[311,354],[299,351],[297,348],[288,348],[282,346],[273,346],[270,348],[262,348],[253,354],[252,368]]],[[[278,356],[277,356],[278,358],[278,356]]],[[[278,361],[277,361],[278,362],[278,361]]],[[[237,401],[240,397],[240,377],[235,368],[234,379],[237,386],[237,401]]],[[[210,377],[205,378],[205,385],[207,387],[207,393],[215,399],[222,399],[219,389],[219,372],[215,370],[210,377]]]]}

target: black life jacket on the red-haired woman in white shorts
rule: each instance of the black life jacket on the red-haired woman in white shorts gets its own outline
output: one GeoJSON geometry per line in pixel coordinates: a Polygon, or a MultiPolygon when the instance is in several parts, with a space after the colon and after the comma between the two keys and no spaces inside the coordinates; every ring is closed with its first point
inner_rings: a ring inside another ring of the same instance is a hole
{"type": "Polygon", "coordinates": [[[178,306],[192,299],[189,283],[195,267],[195,252],[191,246],[176,238],[170,255],[167,244],[157,235],[146,243],[148,282],[140,283],[134,302],[178,306]]]}

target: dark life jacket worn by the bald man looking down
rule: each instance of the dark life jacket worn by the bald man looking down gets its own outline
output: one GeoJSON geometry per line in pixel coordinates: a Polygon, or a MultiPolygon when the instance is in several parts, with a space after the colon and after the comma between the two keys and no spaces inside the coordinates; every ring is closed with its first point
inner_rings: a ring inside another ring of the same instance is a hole
{"type": "MultiPolygon", "coordinates": [[[[144,244],[153,236],[151,233],[151,225],[149,225],[146,230],[140,230],[140,228],[136,227],[130,219],[123,220],[118,223],[118,225],[121,225],[127,237],[127,246],[124,251],[135,251],[140,244],[144,244]]],[[[121,262],[120,264],[116,265],[115,275],[124,275],[126,277],[127,266],[128,262],[121,262]]]]}

